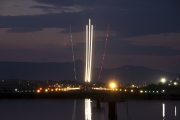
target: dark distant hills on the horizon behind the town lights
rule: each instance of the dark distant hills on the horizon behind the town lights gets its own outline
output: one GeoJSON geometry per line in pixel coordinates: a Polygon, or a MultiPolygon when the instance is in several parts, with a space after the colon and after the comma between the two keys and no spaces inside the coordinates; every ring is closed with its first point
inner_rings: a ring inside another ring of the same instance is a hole
{"type": "MultiPolygon", "coordinates": [[[[84,81],[84,62],[76,62],[77,79],[84,81]]],[[[92,82],[98,81],[99,68],[93,69],[92,82]]],[[[118,80],[121,83],[159,82],[161,77],[173,79],[180,74],[150,69],[143,66],[125,65],[114,69],[103,69],[100,82],[118,80]]],[[[1,79],[24,80],[74,80],[72,62],[0,62],[1,79]]]]}

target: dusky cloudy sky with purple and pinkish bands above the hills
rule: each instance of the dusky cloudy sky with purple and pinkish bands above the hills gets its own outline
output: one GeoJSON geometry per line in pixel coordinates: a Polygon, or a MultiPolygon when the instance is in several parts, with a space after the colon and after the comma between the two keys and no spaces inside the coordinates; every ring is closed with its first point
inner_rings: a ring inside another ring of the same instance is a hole
{"type": "Polygon", "coordinates": [[[179,0],[0,0],[0,61],[84,61],[85,25],[95,26],[94,67],[180,72],[179,0]]]}

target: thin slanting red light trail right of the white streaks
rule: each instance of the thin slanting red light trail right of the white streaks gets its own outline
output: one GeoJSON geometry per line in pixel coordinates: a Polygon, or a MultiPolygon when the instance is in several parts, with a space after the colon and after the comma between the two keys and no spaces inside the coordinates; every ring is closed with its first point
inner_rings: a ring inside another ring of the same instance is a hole
{"type": "Polygon", "coordinates": [[[106,32],[106,42],[104,44],[104,53],[103,53],[103,58],[102,58],[102,63],[101,63],[101,68],[100,68],[98,80],[100,80],[100,77],[101,77],[102,67],[103,67],[103,64],[104,64],[104,58],[105,58],[105,55],[106,55],[106,46],[107,46],[107,41],[108,41],[108,33],[109,33],[109,24],[108,24],[108,29],[107,29],[107,32],[106,32]]]}

